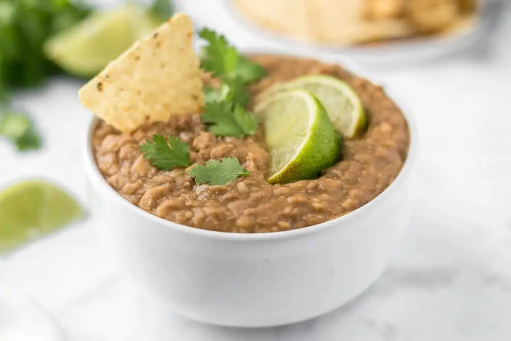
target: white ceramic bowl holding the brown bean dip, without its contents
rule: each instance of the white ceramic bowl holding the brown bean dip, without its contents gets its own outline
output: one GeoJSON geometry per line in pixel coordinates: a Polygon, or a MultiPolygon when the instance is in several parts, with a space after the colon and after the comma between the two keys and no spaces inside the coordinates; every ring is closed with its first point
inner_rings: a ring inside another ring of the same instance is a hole
{"type": "Polygon", "coordinates": [[[190,228],[129,203],[95,164],[90,145],[98,120],[93,119],[85,168],[99,234],[135,283],[193,320],[268,327],[331,311],[380,276],[405,231],[416,131],[408,107],[402,109],[410,127],[409,155],[382,194],[334,220],[266,234],[190,228]]]}

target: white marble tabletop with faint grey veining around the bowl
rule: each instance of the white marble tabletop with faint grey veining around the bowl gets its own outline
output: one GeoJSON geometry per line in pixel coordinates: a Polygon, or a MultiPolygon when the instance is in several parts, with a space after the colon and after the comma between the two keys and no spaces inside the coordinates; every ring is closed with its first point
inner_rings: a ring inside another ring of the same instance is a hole
{"type": "MultiPolygon", "coordinates": [[[[191,11],[197,4],[181,1],[191,11]]],[[[213,11],[197,17],[242,47],[265,46],[213,11]]],[[[96,244],[91,220],[0,259],[0,281],[32,294],[72,341],[511,339],[511,6],[503,12],[491,35],[471,49],[435,63],[373,71],[413,104],[421,143],[416,203],[387,271],[347,306],[272,329],[183,320],[117,274],[96,244]]],[[[33,113],[45,148],[20,155],[0,143],[0,185],[53,178],[86,204],[80,149],[89,113],[78,103],[79,86],[55,79],[17,97],[33,113]]]]}

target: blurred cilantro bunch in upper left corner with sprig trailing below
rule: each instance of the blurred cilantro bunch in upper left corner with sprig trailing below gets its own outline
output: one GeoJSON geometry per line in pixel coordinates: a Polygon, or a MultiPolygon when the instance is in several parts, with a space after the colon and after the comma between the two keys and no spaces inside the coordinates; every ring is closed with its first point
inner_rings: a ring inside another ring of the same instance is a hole
{"type": "Polygon", "coordinates": [[[85,17],[89,9],[70,0],[0,0],[0,134],[18,150],[37,149],[30,119],[9,107],[11,89],[40,84],[57,71],[42,46],[53,34],[85,17]]]}

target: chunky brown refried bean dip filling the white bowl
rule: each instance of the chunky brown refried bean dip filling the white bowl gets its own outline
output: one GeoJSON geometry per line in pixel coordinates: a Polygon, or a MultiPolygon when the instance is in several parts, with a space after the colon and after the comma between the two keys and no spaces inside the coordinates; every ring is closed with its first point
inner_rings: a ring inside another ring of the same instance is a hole
{"type": "Polygon", "coordinates": [[[303,75],[327,74],[349,83],[367,110],[367,131],[344,141],[339,162],[317,179],[270,185],[265,180],[270,160],[263,131],[243,139],[217,138],[201,123],[200,113],[146,124],[130,134],[100,122],[92,148],[110,186],[132,204],[170,221],[205,230],[263,233],[304,228],[345,215],[390,185],[405,161],[409,132],[401,110],[380,86],[315,60],[252,59],[268,74],[251,86],[253,96],[276,82],[303,75]],[[210,186],[195,184],[184,169],[158,170],[139,147],[155,133],[175,135],[188,143],[193,164],[234,156],[250,175],[225,186],[210,186]]]}

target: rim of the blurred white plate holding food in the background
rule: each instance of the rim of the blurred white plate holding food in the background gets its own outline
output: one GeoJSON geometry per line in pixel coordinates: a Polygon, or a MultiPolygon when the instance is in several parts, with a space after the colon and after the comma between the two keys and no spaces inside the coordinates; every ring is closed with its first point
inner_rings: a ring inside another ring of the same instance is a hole
{"type": "MultiPolygon", "coordinates": [[[[333,57],[338,56],[339,60],[353,59],[365,65],[378,66],[383,64],[403,65],[404,63],[424,62],[446,56],[470,46],[488,31],[487,29],[494,18],[494,11],[490,9],[496,2],[496,0],[481,2],[479,18],[474,25],[444,37],[421,37],[360,47],[327,47],[319,44],[301,43],[248,22],[234,8],[230,0],[223,0],[222,6],[238,26],[250,31],[252,35],[264,38],[277,50],[316,58],[327,57],[328,59],[333,59],[333,57]]],[[[229,34],[229,32],[225,33],[229,34]]]]}

